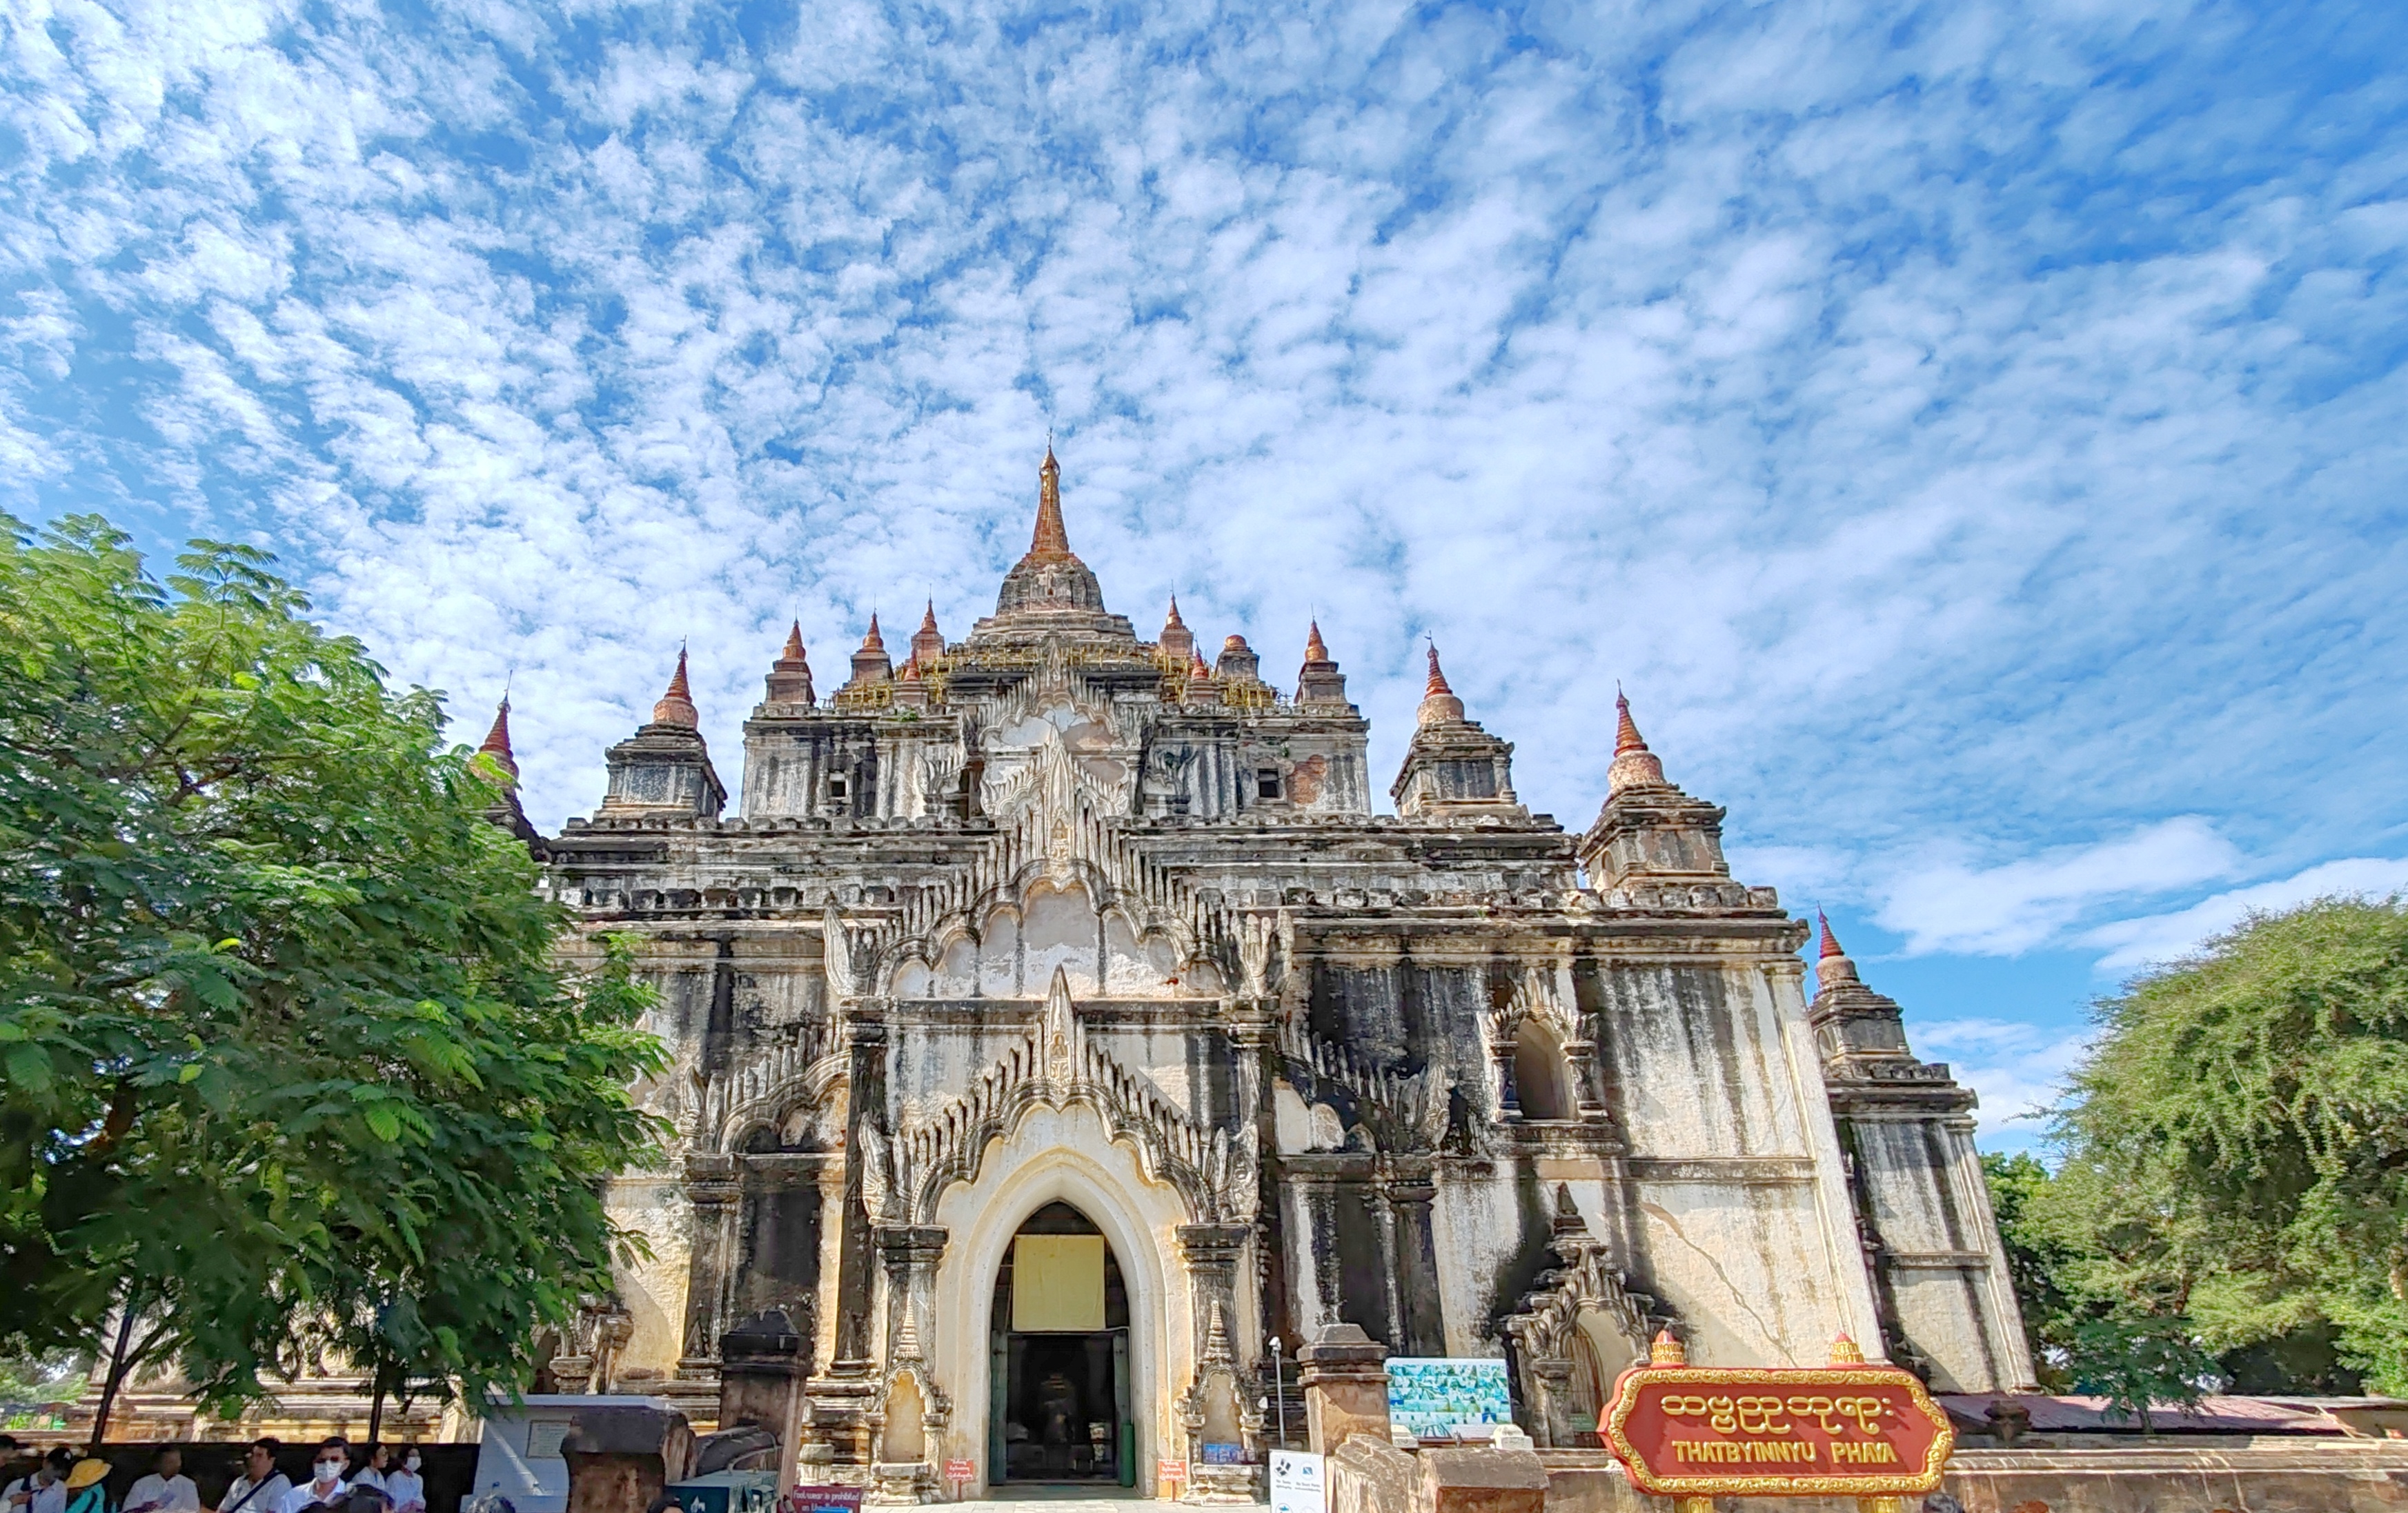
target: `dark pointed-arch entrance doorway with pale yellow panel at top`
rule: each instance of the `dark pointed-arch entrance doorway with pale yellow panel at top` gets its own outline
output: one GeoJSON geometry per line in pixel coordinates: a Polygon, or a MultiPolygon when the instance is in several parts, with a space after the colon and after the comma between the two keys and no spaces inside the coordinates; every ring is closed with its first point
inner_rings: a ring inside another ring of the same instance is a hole
{"type": "Polygon", "coordinates": [[[1134,1487],[1129,1292],[1103,1232],[1069,1203],[1028,1215],[992,1318],[990,1479],[1134,1487]]]}

